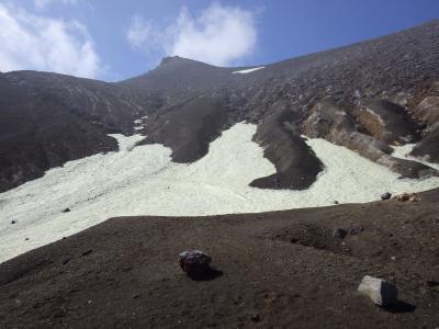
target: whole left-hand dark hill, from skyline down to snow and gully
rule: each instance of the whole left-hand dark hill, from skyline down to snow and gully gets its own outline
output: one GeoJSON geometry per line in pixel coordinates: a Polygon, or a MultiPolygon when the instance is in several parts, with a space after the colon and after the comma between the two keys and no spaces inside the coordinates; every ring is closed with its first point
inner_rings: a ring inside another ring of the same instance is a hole
{"type": "Polygon", "coordinates": [[[112,83],[35,71],[1,75],[0,191],[68,160],[116,150],[108,134],[132,134],[150,102],[112,83]]]}

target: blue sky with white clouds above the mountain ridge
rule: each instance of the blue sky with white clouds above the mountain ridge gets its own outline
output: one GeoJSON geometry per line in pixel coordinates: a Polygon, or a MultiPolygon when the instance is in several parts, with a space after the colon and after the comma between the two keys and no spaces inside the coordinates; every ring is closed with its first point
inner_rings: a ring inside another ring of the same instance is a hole
{"type": "Polygon", "coordinates": [[[438,0],[0,0],[0,71],[120,81],[165,56],[257,66],[435,19],[438,0]]]}

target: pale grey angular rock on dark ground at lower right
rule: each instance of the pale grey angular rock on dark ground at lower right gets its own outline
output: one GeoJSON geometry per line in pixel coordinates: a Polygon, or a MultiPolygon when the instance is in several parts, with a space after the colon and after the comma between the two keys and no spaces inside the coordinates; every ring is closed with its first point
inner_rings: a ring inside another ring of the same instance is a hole
{"type": "Polygon", "coordinates": [[[358,292],[380,306],[391,306],[397,302],[397,288],[393,284],[370,275],[363,277],[358,292]]]}

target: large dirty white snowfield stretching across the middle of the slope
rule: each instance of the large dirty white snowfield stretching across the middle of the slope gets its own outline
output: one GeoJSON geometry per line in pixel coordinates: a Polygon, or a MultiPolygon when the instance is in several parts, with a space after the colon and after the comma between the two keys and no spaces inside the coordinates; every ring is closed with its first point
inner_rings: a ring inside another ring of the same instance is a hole
{"type": "MultiPolygon", "coordinates": [[[[334,201],[369,202],[386,191],[439,186],[438,178],[399,180],[387,168],[344,147],[309,139],[326,169],[308,190],[250,188],[252,180],[274,173],[263,150],[251,141],[255,132],[255,125],[236,124],[191,164],[171,162],[170,149],[161,145],[134,147],[143,138],[139,135],[112,135],[120,151],[67,162],[0,194],[0,262],[113,216],[266,212],[334,201]],[[70,212],[64,213],[65,208],[70,212]]],[[[398,148],[395,155],[404,157],[410,147],[398,148]]]]}

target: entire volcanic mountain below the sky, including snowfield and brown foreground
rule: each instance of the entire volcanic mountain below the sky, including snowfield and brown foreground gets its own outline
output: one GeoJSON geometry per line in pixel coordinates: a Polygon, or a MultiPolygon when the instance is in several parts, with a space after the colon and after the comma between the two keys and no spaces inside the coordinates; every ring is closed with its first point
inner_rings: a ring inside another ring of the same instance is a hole
{"type": "Polygon", "coordinates": [[[0,327],[435,328],[438,170],[439,21],[258,67],[0,73],[0,327]]]}

